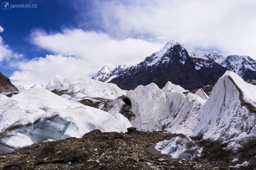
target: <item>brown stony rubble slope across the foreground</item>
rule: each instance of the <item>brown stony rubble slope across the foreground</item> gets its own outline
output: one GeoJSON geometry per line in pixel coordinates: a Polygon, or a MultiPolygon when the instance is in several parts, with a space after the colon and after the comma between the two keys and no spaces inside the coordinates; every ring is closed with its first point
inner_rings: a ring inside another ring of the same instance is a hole
{"type": "MultiPolygon", "coordinates": [[[[36,143],[19,151],[0,155],[0,168],[7,169],[98,169],[98,170],[227,170],[225,158],[231,156],[218,143],[197,139],[201,147],[209,145],[202,155],[206,161],[173,159],[155,151],[154,143],[173,139],[177,134],[142,132],[129,129],[127,133],[101,133],[99,130],[83,135],[82,139],[36,143]],[[212,163],[213,162],[213,163],[212,163]]],[[[196,141],[196,140],[195,140],[196,141]]],[[[239,162],[242,162],[240,160],[239,162]]],[[[232,163],[231,165],[236,165],[232,163]]],[[[249,165],[245,169],[252,168],[249,165]]],[[[233,168],[231,168],[233,169],[233,168]]]]}

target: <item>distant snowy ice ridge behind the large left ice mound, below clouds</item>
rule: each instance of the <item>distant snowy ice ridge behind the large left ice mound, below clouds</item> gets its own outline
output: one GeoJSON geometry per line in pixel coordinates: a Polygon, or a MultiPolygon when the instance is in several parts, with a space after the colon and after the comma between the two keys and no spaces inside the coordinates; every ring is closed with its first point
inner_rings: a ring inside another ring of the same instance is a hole
{"type": "Polygon", "coordinates": [[[61,75],[55,75],[45,89],[60,92],[64,98],[74,101],[93,98],[115,99],[126,95],[112,83],[103,83],[90,78],[64,78],[61,75]]]}

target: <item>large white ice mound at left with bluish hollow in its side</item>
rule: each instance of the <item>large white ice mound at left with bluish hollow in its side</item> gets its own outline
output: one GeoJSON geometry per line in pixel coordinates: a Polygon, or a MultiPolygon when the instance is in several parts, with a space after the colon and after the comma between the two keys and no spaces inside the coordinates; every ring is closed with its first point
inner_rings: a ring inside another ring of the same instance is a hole
{"type": "Polygon", "coordinates": [[[81,138],[94,129],[125,132],[131,123],[121,114],[66,100],[43,88],[0,99],[0,152],[46,139],[81,138]]]}

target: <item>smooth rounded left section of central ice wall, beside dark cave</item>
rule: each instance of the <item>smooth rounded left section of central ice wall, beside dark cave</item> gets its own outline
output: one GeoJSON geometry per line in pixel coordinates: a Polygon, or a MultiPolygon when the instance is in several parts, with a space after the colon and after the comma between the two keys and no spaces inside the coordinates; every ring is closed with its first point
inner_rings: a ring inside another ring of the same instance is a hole
{"type": "Polygon", "coordinates": [[[166,93],[154,83],[138,86],[127,94],[132,103],[135,119],[132,125],[138,130],[154,131],[159,122],[170,115],[169,101],[166,93]]]}

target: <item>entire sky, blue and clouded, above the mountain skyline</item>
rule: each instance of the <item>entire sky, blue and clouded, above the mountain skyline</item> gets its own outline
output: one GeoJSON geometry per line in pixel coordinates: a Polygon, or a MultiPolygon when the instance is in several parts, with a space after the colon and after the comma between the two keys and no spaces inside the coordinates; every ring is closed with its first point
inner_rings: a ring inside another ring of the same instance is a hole
{"type": "MultiPolygon", "coordinates": [[[[4,1],[0,1],[3,3],[4,1]]],[[[256,59],[253,0],[8,0],[0,8],[0,71],[16,85],[137,64],[170,39],[256,59]]]]}

